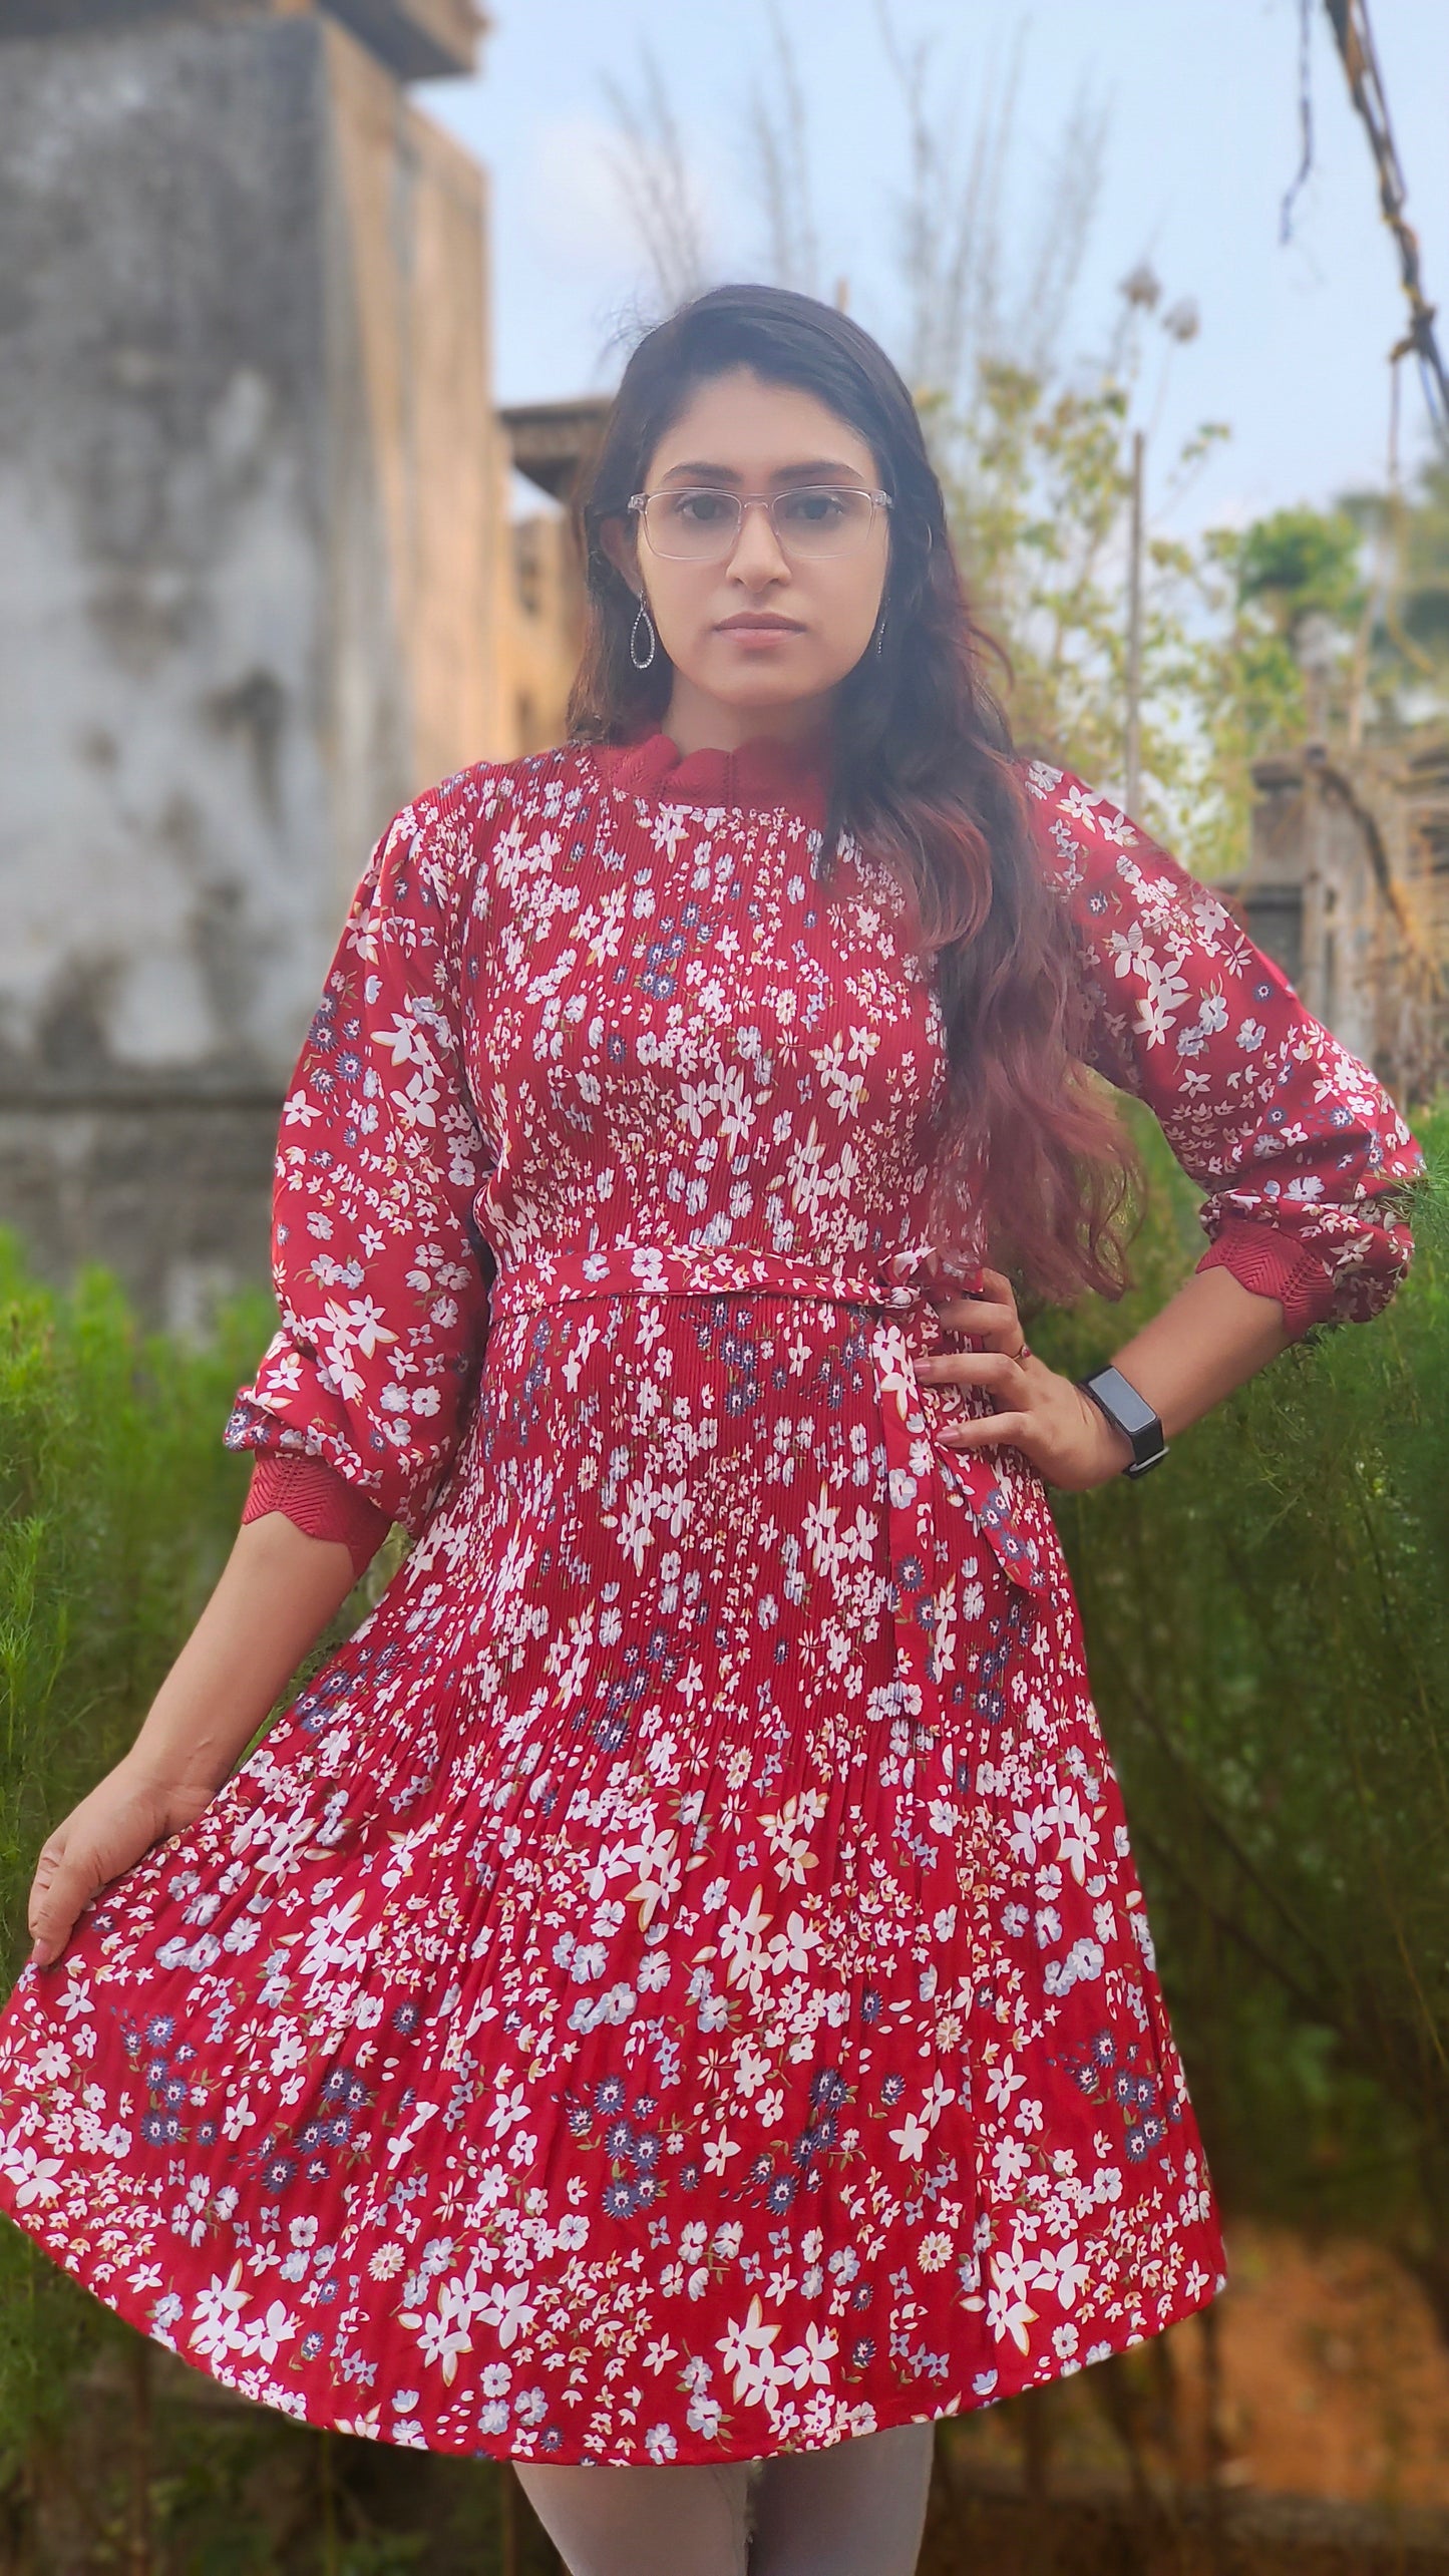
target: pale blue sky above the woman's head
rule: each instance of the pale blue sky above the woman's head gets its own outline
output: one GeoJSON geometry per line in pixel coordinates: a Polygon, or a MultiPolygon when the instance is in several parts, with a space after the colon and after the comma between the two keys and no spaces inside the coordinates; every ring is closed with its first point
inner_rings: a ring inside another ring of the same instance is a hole
{"type": "MultiPolygon", "coordinates": [[[[614,77],[639,93],[652,49],[678,106],[719,276],[761,276],[748,100],[773,82],[768,0],[490,0],[477,80],[418,98],[492,173],[495,376],[503,402],[608,386],[619,327],[650,304],[647,265],[611,173],[614,77]]],[[[902,355],[892,219],[905,116],[879,0],[779,0],[810,106],[822,276],[902,355]]],[[[1426,286],[1449,340],[1449,0],[1372,0],[1379,62],[1418,227],[1426,286]]],[[[1385,474],[1390,345],[1403,294],[1377,214],[1374,167],[1351,113],[1323,0],[1310,0],[1315,167],[1294,237],[1279,204],[1299,160],[1299,0],[895,0],[910,44],[936,39],[933,98],[969,142],[980,100],[1021,41],[1006,185],[1013,237],[1031,234],[1083,93],[1106,111],[1104,185],[1065,340],[1106,340],[1116,281],[1150,258],[1165,299],[1194,296],[1201,335],[1173,353],[1152,456],[1196,420],[1227,420],[1183,510],[1243,520],[1325,502],[1385,474]]],[[[830,286],[825,289],[830,291],[830,286]]],[[[1165,343],[1160,343],[1165,348],[1165,343]]],[[[1423,399],[1403,371],[1405,466],[1423,453],[1423,399]]],[[[1145,379],[1155,407],[1155,376],[1145,379]]]]}

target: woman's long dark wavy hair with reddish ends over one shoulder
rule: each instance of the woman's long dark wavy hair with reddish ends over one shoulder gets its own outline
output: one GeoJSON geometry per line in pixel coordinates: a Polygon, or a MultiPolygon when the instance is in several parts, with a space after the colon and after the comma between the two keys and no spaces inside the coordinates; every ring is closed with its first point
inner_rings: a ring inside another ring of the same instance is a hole
{"type": "Polygon", "coordinates": [[[949,1066],[938,1216],[949,1236],[962,1229],[1036,1296],[1114,1296],[1132,1154],[1078,1054],[1073,935],[985,677],[998,649],[969,613],[910,392],[848,314],[781,286],[717,286],[634,348],[575,495],[588,631],[570,739],[624,742],[665,714],[673,667],[660,647],[650,670],[634,670],[637,600],[601,531],[627,518],[694,392],[735,366],[815,394],[859,430],[895,502],[882,649],[869,649],[835,693],[822,871],[830,886],[848,832],[892,868],[913,940],[933,953],[949,1066]]]}

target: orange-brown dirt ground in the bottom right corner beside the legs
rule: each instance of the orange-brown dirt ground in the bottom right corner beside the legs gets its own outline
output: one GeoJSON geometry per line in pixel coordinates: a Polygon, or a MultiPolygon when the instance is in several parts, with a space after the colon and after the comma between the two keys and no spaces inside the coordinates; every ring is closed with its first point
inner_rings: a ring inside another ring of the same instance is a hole
{"type": "Polygon", "coordinates": [[[1449,2349],[1379,2246],[1238,2226],[1207,2313],[941,2427],[923,2576],[1449,2568],[1449,2349]]]}

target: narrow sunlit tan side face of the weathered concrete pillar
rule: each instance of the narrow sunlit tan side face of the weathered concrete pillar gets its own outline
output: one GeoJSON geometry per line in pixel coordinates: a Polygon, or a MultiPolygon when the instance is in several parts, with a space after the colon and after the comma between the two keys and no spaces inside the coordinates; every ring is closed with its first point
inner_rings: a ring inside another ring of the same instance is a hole
{"type": "Polygon", "coordinates": [[[498,616],[508,446],[490,399],[485,175],[351,36],[320,23],[320,41],[327,778],[345,894],[407,796],[513,752],[498,616]]]}

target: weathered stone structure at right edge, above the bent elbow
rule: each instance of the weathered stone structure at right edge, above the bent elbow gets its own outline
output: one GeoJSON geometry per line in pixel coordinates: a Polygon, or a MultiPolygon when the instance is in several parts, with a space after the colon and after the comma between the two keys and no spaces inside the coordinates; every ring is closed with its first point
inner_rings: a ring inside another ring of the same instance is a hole
{"type": "Polygon", "coordinates": [[[1449,739],[1253,768],[1258,801],[1227,896],[1318,1020],[1400,1103],[1449,1079],[1449,739]]]}

